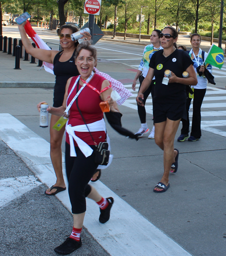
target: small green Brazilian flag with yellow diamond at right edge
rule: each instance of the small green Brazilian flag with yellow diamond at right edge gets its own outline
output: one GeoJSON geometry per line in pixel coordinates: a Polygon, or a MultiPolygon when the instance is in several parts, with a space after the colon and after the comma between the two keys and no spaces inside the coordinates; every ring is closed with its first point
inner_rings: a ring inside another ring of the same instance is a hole
{"type": "Polygon", "coordinates": [[[205,63],[209,63],[214,67],[222,68],[224,64],[224,52],[220,47],[217,47],[215,44],[212,44],[205,63]]]}

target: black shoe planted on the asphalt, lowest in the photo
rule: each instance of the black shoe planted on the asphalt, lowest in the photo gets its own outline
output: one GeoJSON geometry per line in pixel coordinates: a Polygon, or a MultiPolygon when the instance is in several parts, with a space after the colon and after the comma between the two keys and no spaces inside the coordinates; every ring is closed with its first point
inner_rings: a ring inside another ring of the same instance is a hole
{"type": "Polygon", "coordinates": [[[77,250],[82,246],[82,241],[80,237],[80,241],[76,241],[72,239],[71,237],[67,237],[67,239],[59,246],[57,246],[54,251],[56,251],[59,254],[67,255],[71,253],[72,251],[77,250]]]}

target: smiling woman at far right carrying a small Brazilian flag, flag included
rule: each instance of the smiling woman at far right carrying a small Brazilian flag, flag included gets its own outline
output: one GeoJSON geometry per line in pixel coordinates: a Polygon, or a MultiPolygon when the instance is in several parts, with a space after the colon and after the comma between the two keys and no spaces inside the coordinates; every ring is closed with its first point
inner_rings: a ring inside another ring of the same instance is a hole
{"type": "Polygon", "coordinates": [[[202,51],[200,47],[201,36],[199,34],[193,34],[191,36],[192,49],[189,52],[189,56],[194,62],[193,67],[196,69],[198,84],[194,86],[193,95],[189,94],[186,101],[187,120],[182,118],[183,127],[181,129],[181,135],[177,139],[178,141],[196,141],[201,138],[201,106],[203,98],[207,90],[207,79],[209,82],[215,84],[212,76],[212,66],[221,68],[224,64],[224,52],[216,45],[212,45],[209,52],[202,51]],[[190,137],[189,133],[189,108],[193,98],[193,117],[192,117],[192,130],[190,137]]]}

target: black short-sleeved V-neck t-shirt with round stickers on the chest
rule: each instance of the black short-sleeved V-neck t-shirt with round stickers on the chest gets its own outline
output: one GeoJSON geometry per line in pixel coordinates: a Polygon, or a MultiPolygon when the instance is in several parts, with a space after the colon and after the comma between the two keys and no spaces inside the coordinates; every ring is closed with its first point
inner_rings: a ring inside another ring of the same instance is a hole
{"type": "Polygon", "coordinates": [[[188,53],[176,49],[168,57],[159,50],[151,57],[149,67],[154,69],[155,75],[155,96],[154,102],[176,103],[186,102],[185,85],[181,83],[162,84],[166,69],[174,72],[177,77],[183,77],[182,73],[192,64],[193,61],[188,53]]]}

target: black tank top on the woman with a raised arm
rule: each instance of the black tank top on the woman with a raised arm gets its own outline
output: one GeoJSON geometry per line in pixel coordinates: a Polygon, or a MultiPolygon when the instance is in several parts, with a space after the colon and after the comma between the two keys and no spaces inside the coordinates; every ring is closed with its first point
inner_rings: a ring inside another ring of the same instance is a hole
{"type": "Polygon", "coordinates": [[[56,82],[53,93],[54,107],[59,107],[63,104],[67,80],[70,77],[76,77],[79,75],[78,69],[75,65],[75,52],[68,61],[60,62],[59,59],[61,57],[62,52],[63,51],[57,53],[53,60],[53,72],[56,76],[56,82]]]}

